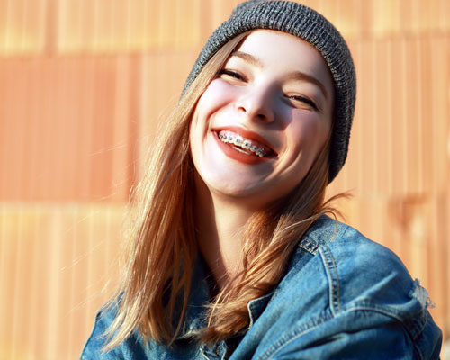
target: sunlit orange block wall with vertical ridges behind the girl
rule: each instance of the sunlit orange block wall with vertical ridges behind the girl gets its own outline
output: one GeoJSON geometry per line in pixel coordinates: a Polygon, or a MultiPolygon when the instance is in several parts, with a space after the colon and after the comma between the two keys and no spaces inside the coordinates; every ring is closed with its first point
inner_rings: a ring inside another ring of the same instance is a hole
{"type": "MultiPolygon", "coordinates": [[[[450,3],[303,3],[356,61],[350,152],[329,193],[354,194],[338,203],[347,222],[419,277],[449,338],[450,3]]],[[[0,359],[80,355],[148,142],[236,4],[0,0],[0,359]]]]}

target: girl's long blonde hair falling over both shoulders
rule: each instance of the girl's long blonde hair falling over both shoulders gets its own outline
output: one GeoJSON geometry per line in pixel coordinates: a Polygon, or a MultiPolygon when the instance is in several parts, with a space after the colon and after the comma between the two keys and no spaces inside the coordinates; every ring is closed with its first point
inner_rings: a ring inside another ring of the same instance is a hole
{"type": "MultiPolygon", "coordinates": [[[[185,91],[152,148],[147,174],[130,206],[127,262],[108,304],[118,303],[118,308],[105,333],[105,351],[120,345],[134,329],[139,329],[144,339],[171,344],[183,325],[197,254],[194,168],[189,155],[191,115],[206,86],[247,34],[229,40],[211,58],[185,91]]],[[[247,302],[274,288],[298,240],[313,220],[327,211],[328,144],[293,193],[249,220],[243,270],[238,281],[225,286],[211,302],[209,324],[200,333],[200,341],[226,339],[247,327],[247,302]]]]}

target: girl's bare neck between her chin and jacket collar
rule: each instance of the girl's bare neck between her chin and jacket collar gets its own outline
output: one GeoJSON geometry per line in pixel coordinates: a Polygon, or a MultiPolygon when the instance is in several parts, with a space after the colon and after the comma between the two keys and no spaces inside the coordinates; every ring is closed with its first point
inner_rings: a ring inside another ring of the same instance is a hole
{"type": "Polygon", "coordinates": [[[254,211],[211,193],[202,180],[195,180],[196,236],[202,256],[221,289],[241,270],[243,234],[254,211]]]}

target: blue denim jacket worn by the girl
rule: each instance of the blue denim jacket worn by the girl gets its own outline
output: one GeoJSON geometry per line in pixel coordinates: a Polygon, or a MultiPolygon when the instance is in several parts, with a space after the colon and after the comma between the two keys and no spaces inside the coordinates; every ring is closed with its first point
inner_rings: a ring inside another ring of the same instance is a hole
{"type": "Polygon", "coordinates": [[[133,332],[102,353],[114,308],[98,312],[87,359],[437,359],[440,329],[428,312],[428,293],[399,257],[356,229],[322,216],[303,236],[272,293],[248,302],[245,334],[213,346],[193,341],[205,325],[204,264],[194,269],[184,328],[175,345],[144,342],[133,332]],[[230,352],[230,351],[229,351],[230,352]]]}

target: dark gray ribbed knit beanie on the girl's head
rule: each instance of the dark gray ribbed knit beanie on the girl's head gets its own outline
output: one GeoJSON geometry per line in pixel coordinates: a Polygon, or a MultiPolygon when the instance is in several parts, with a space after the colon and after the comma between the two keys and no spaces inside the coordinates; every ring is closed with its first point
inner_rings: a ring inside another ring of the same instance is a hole
{"type": "Polygon", "coordinates": [[[184,85],[193,83],[202,67],[226,42],[254,29],[272,29],[298,36],[316,48],[329,66],[335,85],[335,118],[329,153],[329,182],[344,166],[356,102],[356,73],[350,50],[338,30],[321,14],[302,4],[250,0],[238,4],[229,20],[214,31],[184,85]]]}

